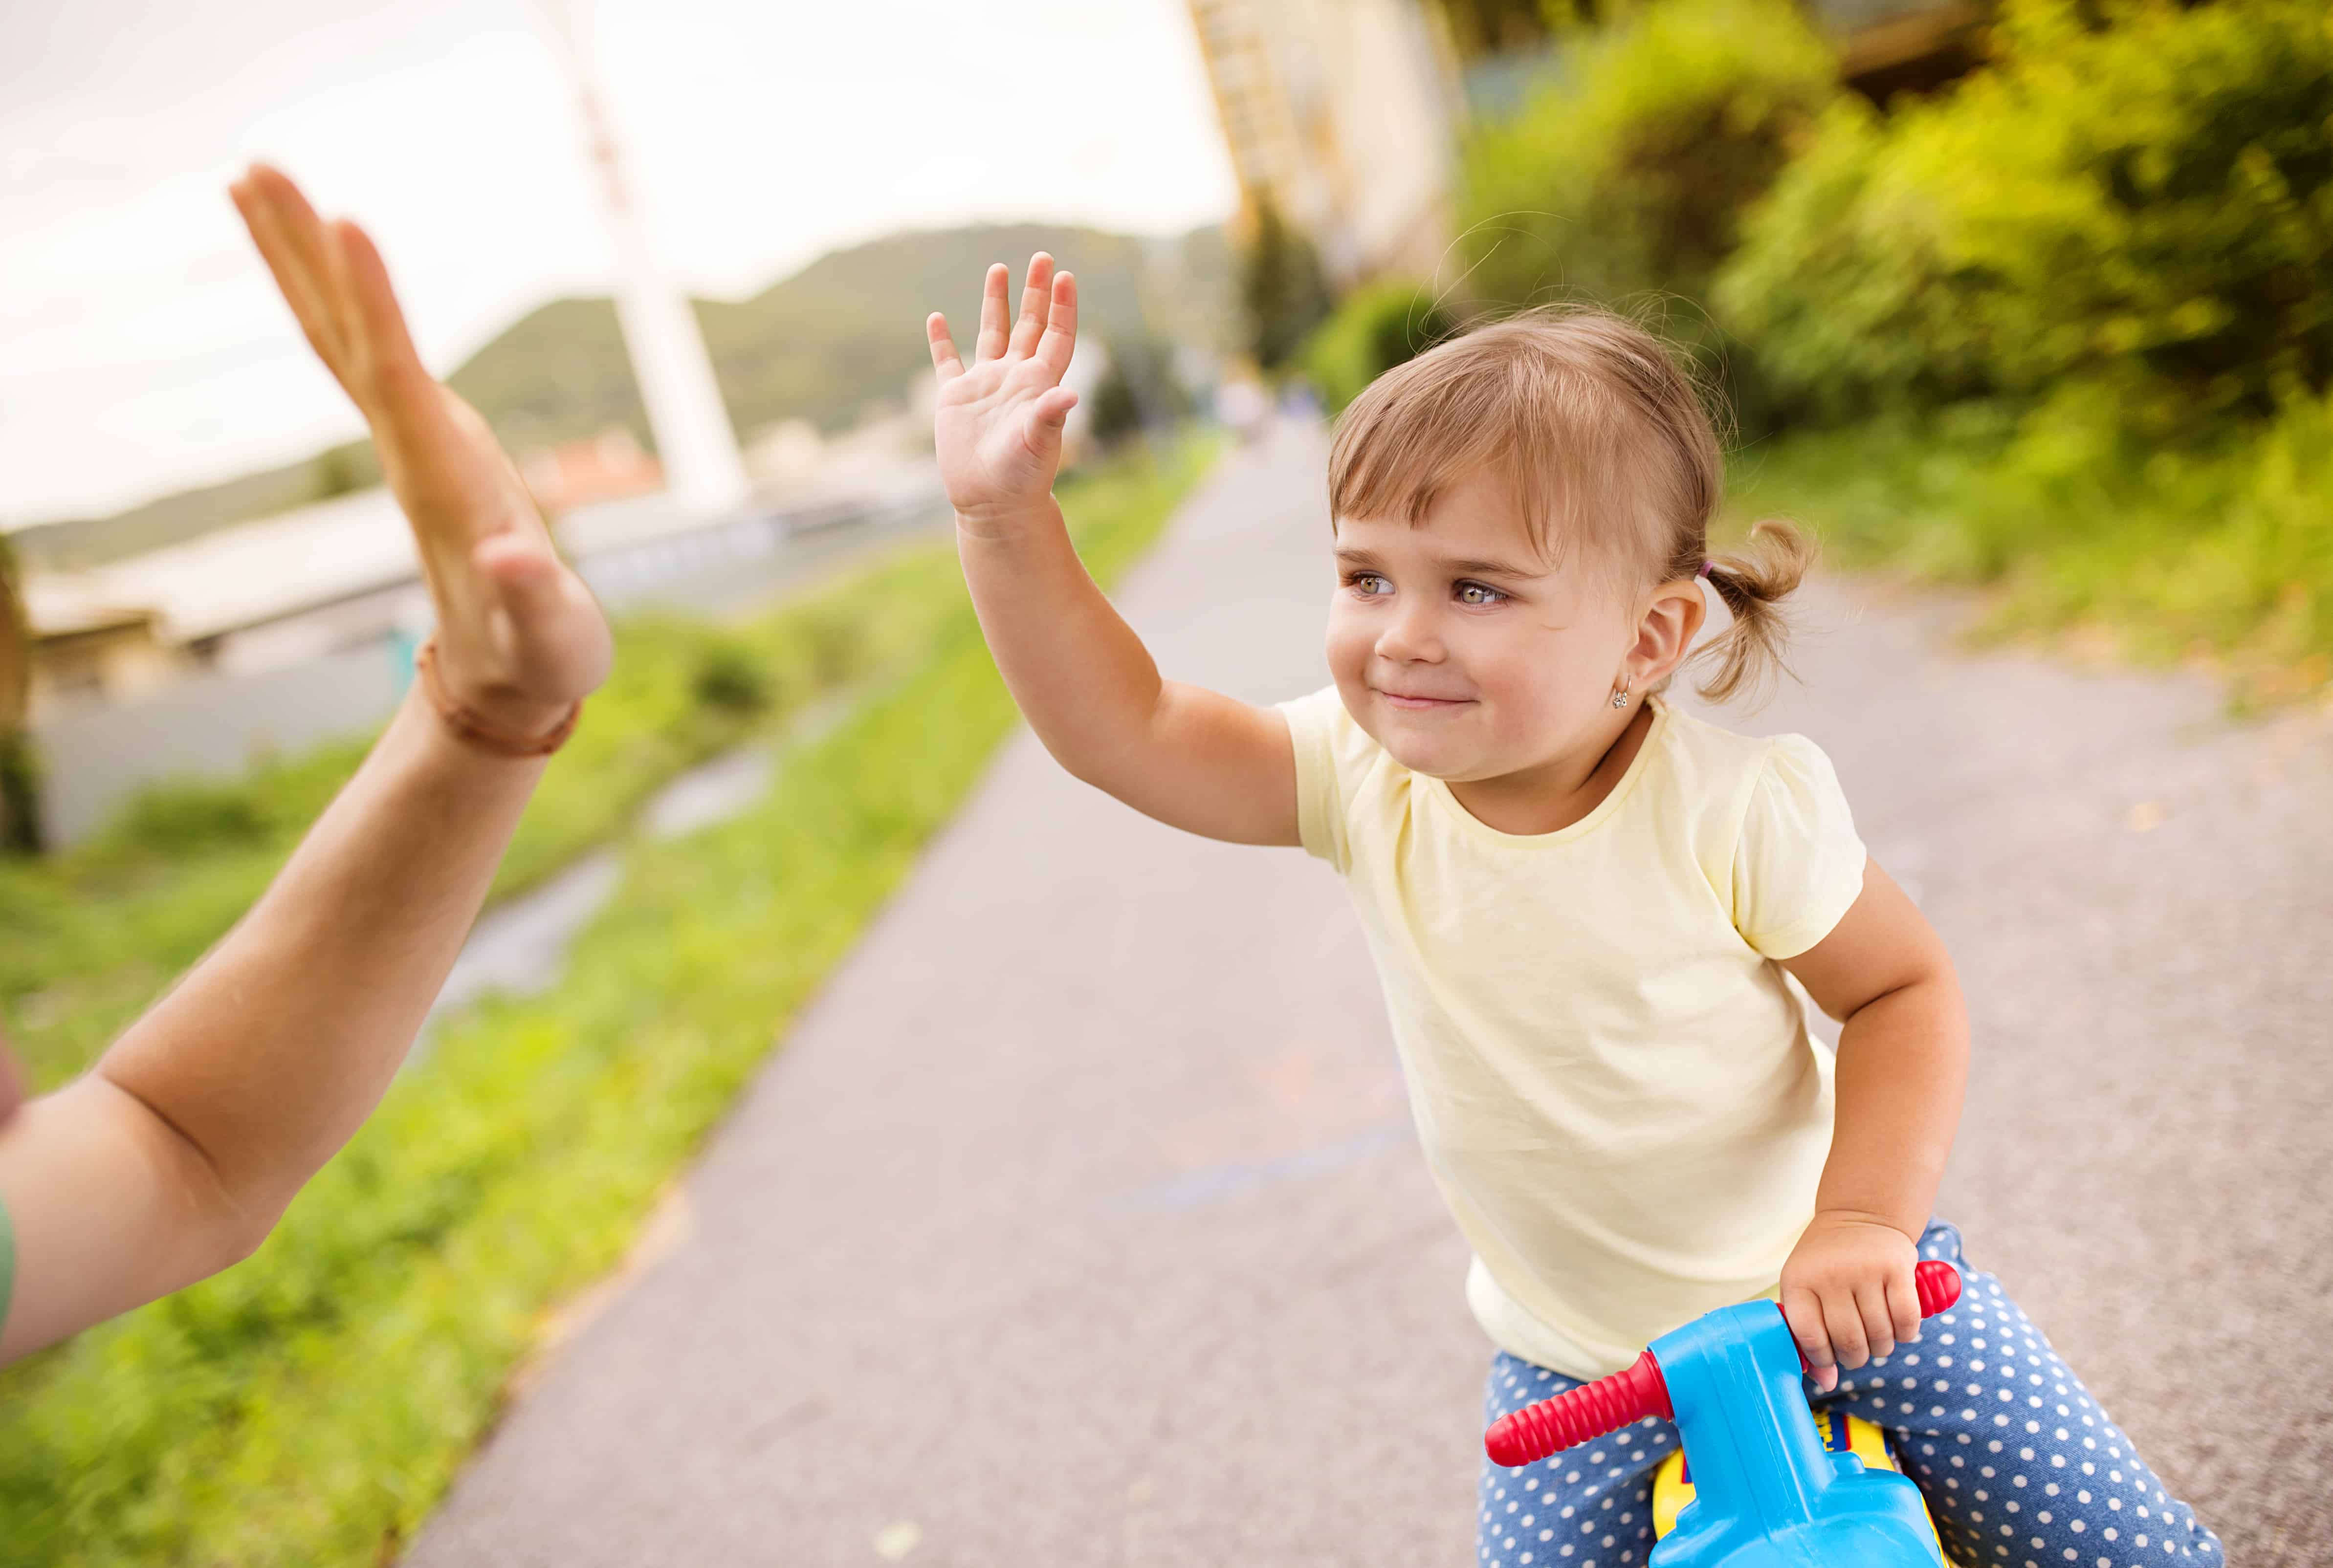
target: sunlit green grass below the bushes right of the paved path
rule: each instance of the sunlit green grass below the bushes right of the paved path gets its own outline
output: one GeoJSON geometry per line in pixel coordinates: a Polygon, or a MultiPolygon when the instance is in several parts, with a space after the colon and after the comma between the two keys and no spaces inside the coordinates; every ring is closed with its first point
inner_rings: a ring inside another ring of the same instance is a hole
{"type": "Polygon", "coordinates": [[[1803,432],[1736,460],[1733,518],[1831,560],[1985,590],[1981,639],[2195,663],[2237,709],[2333,691],[2333,401],[2193,448],[2072,406],[1803,432]]]}

